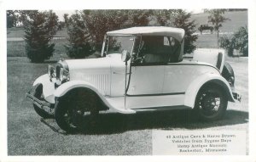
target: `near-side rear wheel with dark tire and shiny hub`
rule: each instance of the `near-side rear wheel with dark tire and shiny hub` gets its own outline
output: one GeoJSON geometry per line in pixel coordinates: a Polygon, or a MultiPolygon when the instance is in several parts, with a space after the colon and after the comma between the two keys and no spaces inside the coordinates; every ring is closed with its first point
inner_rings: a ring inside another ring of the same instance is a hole
{"type": "Polygon", "coordinates": [[[201,120],[219,120],[227,109],[228,99],[215,85],[202,87],[195,101],[195,112],[201,120]]]}

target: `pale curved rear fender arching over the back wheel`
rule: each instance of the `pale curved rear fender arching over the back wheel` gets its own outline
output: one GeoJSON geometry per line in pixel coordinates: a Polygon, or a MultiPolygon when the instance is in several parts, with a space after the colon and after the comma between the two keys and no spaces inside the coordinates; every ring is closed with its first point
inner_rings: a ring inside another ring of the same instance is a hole
{"type": "Polygon", "coordinates": [[[188,89],[185,92],[184,105],[189,106],[190,108],[194,108],[197,93],[199,92],[200,88],[207,83],[218,84],[228,95],[228,100],[235,102],[228,81],[226,81],[221,75],[206,73],[198,76],[194,81],[190,83],[188,89]]]}

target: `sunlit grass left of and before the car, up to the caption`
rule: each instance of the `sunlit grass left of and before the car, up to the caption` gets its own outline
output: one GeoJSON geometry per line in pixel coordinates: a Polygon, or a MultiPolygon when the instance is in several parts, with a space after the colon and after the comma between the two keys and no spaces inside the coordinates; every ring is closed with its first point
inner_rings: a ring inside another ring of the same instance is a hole
{"type": "MultiPolygon", "coordinates": [[[[40,122],[39,116],[32,109],[32,103],[25,97],[32,82],[45,72],[46,64],[31,64],[24,57],[8,58],[9,155],[151,154],[151,130],[113,130],[113,133],[102,136],[67,136],[50,130],[40,122]]],[[[119,120],[113,121],[110,125],[117,128],[116,122],[119,120]]],[[[54,120],[47,122],[55,126],[54,120]]]]}

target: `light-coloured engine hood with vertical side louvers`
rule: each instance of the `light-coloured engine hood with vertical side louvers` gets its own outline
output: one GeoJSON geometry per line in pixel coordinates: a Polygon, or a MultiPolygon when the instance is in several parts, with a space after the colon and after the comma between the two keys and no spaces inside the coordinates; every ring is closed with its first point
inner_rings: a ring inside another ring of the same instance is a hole
{"type": "Polygon", "coordinates": [[[86,81],[105,95],[110,92],[111,67],[124,64],[120,54],[98,59],[70,59],[66,62],[70,81],[86,81]]]}

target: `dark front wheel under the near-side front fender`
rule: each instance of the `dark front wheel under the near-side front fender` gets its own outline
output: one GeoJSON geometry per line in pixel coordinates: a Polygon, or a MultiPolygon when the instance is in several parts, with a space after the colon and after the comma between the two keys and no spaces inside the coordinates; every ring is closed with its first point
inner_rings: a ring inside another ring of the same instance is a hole
{"type": "Polygon", "coordinates": [[[96,116],[99,114],[97,104],[97,96],[94,92],[78,89],[69,93],[55,104],[56,123],[67,132],[91,126],[95,124],[96,116]]]}

